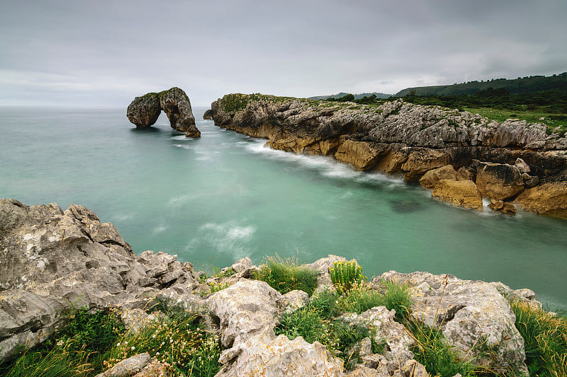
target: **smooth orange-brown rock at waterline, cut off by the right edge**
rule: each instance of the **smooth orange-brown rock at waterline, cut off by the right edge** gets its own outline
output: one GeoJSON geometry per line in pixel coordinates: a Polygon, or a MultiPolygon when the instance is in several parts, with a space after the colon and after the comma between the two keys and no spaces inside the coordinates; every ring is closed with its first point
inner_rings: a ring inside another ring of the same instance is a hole
{"type": "Polygon", "coordinates": [[[525,190],[515,203],[525,211],[567,219],[567,182],[549,182],[525,190]]]}

